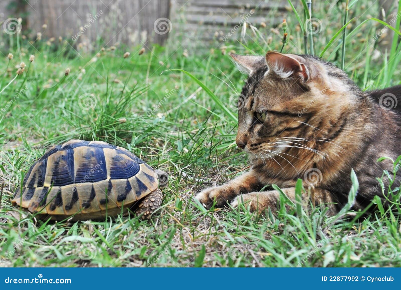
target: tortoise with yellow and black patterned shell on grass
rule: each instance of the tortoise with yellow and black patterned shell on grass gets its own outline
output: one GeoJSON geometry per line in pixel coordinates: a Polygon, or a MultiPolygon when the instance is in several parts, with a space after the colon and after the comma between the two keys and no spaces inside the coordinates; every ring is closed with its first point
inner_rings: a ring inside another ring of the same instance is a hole
{"type": "Polygon", "coordinates": [[[71,140],[53,146],[29,168],[13,205],[38,218],[101,219],[135,207],[142,219],[161,206],[168,174],[154,170],[125,148],[71,140]]]}

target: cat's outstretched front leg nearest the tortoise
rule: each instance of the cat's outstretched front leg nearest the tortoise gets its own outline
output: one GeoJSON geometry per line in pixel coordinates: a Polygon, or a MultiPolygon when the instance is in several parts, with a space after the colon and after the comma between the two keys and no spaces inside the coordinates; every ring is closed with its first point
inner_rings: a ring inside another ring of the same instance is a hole
{"type": "Polygon", "coordinates": [[[216,200],[217,207],[223,207],[238,195],[258,190],[260,186],[255,172],[251,169],[224,185],[209,187],[201,191],[195,198],[207,207],[211,207],[214,200],[216,200]]]}

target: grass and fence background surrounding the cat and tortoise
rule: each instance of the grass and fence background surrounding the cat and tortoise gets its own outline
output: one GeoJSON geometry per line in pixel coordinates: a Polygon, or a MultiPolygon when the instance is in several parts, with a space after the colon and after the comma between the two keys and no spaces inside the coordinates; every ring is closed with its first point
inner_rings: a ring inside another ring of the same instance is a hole
{"type": "Polygon", "coordinates": [[[401,0],[0,0],[0,266],[399,267],[399,205],[334,223],[208,212],[192,196],[250,165],[235,145],[247,76],[229,52],[313,54],[361,89],[389,87],[401,84],[400,16],[401,0]],[[20,220],[10,198],[24,174],[71,139],[170,174],[153,227],[20,220]]]}

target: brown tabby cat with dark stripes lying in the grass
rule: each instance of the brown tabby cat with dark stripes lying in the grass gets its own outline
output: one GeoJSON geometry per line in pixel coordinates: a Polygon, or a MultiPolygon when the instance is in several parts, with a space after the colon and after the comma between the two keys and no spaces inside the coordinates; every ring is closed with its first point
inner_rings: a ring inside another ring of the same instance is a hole
{"type": "MultiPolygon", "coordinates": [[[[353,209],[365,209],[375,195],[385,203],[376,177],[392,172],[393,162],[377,159],[401,154],[401,86],[362,91],[344,71],[310,55],[230,56],[249,75],[238,101],[235,142],[249,154],[251,166],[228,183],[201,191],[198,201],[274,212],[280,199],[271,185],[295,202],[302,178],[314,192],[302,195],[304,207],[324,205],[333,216],[348,202],[353,168],[359,182],[353,209]]],[[[400,179],[397,173],[395,184],[400,179]]]]}

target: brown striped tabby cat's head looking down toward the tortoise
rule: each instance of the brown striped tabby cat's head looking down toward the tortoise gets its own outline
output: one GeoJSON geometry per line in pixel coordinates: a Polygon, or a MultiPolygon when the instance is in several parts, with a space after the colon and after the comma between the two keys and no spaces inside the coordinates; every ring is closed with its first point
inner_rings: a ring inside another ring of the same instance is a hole
{"type": "Polygon", "coordinates": [[[348,77],[315,57],[273,51],[230,56],[249,75],[238,101],[236,138],[248,153],[273,156],[296,146],[294,138],[319,130],[319,120],[336,120],[349,101],[333,99],[346,93],[348,77]]]}

